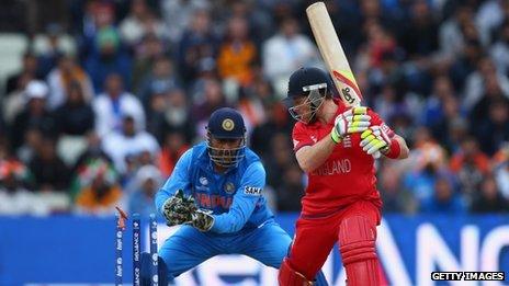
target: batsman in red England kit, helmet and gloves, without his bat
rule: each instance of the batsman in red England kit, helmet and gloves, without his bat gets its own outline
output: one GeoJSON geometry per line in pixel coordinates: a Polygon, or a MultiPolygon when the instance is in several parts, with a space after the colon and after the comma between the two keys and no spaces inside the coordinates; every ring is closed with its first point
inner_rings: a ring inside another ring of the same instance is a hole
{"type": "Polygon", "coordinates": [[[373,155],[405,159],[409,151],[375,112],[348,107],[332,90],[318,68],[301,68],[290,77],[286,100],[298,121],[294,151],[308,186],[280,285],[312,285],[336,242],[349,286],[380,284],[375,240],[382,201],[373,155]]]}

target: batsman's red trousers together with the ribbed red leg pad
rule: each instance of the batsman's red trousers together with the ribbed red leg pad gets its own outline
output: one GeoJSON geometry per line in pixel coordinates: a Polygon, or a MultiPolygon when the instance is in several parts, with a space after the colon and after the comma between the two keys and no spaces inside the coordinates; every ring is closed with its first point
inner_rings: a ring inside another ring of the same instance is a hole
{"type": "Polygon", "coordinates": [[[380,208],[369,201],[358,201],[324,217],[302,215],[285,263],[312,281],[339,242],[348,285],[378,285],[375,240],[380,220],[380,208]]]}

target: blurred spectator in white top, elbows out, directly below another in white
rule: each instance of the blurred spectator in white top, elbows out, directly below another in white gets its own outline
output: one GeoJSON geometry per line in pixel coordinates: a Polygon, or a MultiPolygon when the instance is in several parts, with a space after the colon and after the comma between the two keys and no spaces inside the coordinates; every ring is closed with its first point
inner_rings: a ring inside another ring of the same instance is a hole
{"type": "Polygon", "coordinates": [[[135,118],[131,114],[125,114],[122,119],[122,129],[115,130],[104,136],[102,148],[114,162],[115,169],[120,174],[125,174],[127,170],[126,158],[137,156],[143,151],[148,151],[152,158],[159,155],[159,145],[156,138],[144,129],[137,129],[135,118]]]}

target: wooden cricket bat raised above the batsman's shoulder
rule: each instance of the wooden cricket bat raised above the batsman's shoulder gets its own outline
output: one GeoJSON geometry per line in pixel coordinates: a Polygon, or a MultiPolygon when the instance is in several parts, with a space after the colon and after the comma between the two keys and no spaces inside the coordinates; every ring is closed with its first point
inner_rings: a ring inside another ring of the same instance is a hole
{"type": "Polygon", "coordinates": [[[348,64],[341,43],[324,2],[316,2],[306,9],[316,44],[327,69],[332,77],[341,100],[348,106],[361,104],[362,94],[348,64]]]}

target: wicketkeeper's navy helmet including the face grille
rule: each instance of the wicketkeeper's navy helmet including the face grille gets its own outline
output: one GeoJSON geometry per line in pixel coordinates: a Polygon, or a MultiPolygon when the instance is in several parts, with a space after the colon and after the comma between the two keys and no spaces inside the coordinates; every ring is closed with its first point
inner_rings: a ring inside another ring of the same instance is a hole
{"type": "Polygon", "coordinates": [[[223,107],[212,113],[207,124],[207,148],[211,160],[220,167],[234,167],[245,156],[246,125],[240,113],[230,107],[223,107]],[[219,148],[214,146],[212,139],[235,140],[240,144],[233,148],[219,148]]]}

